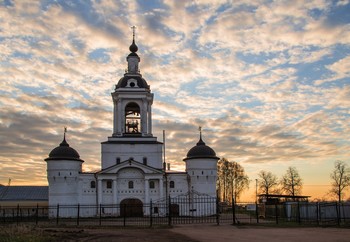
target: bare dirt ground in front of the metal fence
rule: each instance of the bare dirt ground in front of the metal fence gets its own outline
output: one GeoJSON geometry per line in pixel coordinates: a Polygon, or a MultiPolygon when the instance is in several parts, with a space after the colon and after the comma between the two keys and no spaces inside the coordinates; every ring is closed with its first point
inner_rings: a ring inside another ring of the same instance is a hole
{"type": "Polygon", "coordinates": [[[350,242],[350,228],[231,225],[176,225],[173,228],[0,227],[1,241],[103,241],[103,242],[350,242]],[[17,240],[14,240],[17,238],[17,240]]]}

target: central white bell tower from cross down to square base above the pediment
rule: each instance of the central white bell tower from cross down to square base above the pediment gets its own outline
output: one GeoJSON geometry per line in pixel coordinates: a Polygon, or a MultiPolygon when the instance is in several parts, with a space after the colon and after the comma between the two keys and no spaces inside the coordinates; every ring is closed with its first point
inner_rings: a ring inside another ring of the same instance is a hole
{"type": "Polygon", "coordinates": [[[102,143],[102,169],[131,158],[162,168],[162,143],[152,134],[153,93],[140,73],[135,28],[127,69],[112,93],[113,133],[102,143]]]}

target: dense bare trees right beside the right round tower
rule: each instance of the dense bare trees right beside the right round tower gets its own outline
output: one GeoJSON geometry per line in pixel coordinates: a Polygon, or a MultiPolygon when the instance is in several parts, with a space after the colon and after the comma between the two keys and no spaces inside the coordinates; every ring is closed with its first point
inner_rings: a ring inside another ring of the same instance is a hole
{"type": "Polygon", "coordinates": [[[222,158],[218,162],[217,189],[220,200],[232,202],[240,197],[242,192],[249,188],[249,178],[244,168],[235,161],[222,158]]]}

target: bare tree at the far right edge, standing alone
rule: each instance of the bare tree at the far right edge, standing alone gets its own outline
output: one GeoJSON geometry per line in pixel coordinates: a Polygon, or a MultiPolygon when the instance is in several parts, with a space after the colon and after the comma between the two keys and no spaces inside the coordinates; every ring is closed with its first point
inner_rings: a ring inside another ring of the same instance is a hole
{"type": "Polygon", "coordinates": [[[334,170],[330,174],[332,179],[331,194],[338,197],[338,201],[342,201],[344,190],[350,186],[350,171],[346,163],[343,161],[336,161],[334,163],[334,170]]]}

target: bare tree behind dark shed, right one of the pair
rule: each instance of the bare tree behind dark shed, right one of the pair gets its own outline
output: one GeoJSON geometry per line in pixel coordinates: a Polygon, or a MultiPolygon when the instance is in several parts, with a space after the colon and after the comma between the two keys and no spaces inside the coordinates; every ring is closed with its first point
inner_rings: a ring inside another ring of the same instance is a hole
{"type": "Polygon", "coordinates": [[[303,181],[295,167],[288,167],[286,174],[281,179],[282,190],[291,196],[301,194],[303,181]]]}

